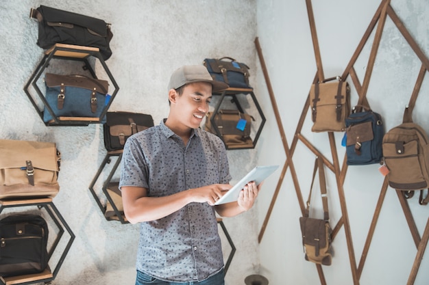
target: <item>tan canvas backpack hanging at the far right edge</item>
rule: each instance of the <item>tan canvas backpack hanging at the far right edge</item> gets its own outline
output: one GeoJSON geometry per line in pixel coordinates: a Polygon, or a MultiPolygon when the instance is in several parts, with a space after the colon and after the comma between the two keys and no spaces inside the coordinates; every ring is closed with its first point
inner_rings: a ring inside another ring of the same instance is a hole
{"type": "Polygon", "coordinates": [[[429,138],[421,126],[414,122],[403,122],[388,131],[382,142],[384,163],[389,169],[389,186],[406,191],[406,197],[420,192],[420,204],[428,204],[429,195],[429,138]]]}

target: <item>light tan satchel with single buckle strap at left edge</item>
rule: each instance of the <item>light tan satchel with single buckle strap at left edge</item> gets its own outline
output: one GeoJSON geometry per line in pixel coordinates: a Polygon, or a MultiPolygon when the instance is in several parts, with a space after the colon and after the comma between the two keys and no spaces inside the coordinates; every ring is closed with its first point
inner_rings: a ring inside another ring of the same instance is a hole
{"type": "Polygon", "coordinates": [[[56,144],[0,139],[0,199],[54,197],[59,170],[56,144]]]}

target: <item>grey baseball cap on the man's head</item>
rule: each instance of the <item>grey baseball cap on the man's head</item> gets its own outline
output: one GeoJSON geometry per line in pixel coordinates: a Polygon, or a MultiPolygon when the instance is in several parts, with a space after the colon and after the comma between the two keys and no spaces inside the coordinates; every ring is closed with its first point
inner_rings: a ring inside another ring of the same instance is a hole
{"type": "Polygon", "coordinates": [[[219,92],[227,89],[228,84],[222,81],[215,81],[208,72],[206,66],[182,66],[174,70],[169,82],[169,90],[177,89],[188,83],[208,82],[212,85],[212,92],[219,92]]]}

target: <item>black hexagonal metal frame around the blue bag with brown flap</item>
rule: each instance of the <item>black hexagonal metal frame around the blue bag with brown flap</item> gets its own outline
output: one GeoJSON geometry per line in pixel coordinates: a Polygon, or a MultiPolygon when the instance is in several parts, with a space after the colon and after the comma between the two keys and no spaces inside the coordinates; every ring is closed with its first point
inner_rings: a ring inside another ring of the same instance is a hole
{"type": "Polygon", "coordinates": [[[82,48],[79,49],[79,46],[77,46],[76,48],[73,48],[72,45],[66,45],[66,46],[61,46],[58,44],[54,45],[53,49],[51,49],[51,51],[49,51],[49,53],[45,53],[44,57],[42,57],[42,60],[40,61],[40,63],[38,64],[38,66],[34,70],[32,76],[29,78],[29,80],[27,81],[27,83],[24,86],[25,94],[27,94],[29,100],[32,102],[32,104],[34,106],[34,109],[36,109],[40,118],[43,120],[43,111],[41,111],[38,108],[36,101],[34,100],[32,94],[29,92],[29,85],[30,84],[34,87],[34,90],[36,90],[36,93],[40,97],[40,100],[42,100],[42,103],[45,105],[47,111],[49,111],[49,113],[51,113],[51,116],[53,117],[53,122],[44,122],[47,126],[88,126],[88,124],[100,124],[102,118],[104,116],[106,116],[106,113],[107,113],[110,105],[112,104],[114,97],[116,96],[117,92],[119,91],[119,86],[118,86],[117,82],[114,80],[112,73],[110,72],[108,66],[106,65],[106,62],[104,61],[104,59],[101,56],[101,53],[99,51],[93,51],[91,49],[82,49],[82,48]],[[70,53],[82,53],[82,54],[86,54],[86,56],[84,56],[84,57],[67,57],[67,56],[62,56],[62,55],[56,55],[57,51],[66,51],[66,52],[70,52],[70,53]],[[103,66],[104,70],[106,71],[106,74],[108,74],[108,77],[114,86],[114,91],[112,92],[112,95],[110,96],[110,100],[109,100],[108,104],[104,107],[103,111],[101,112],[100,117],[97,118],[98,120],[59,120],[58,117],[55,115],[55,113],[53,113],[53,110],[49,106],[49,103],[47,102],[45,96],[40,91],[40,88],[37,85],[37,81],[40,78],[40,76],[42,75],[42,72],[45,70],[45,68],[47,68],[47,66],[49,65],[49,62],[51,61],[51,59],[66,59],[66,60],[84,62],[84,69],[89,70],[90,74],[95,79],[97,79],[97,75],[95,74],[95,70],[91,67],[90,62],[88,61],[88,59],[90,57],[95,57],[95,58],[99,59],[101,66],[103,66]]]}

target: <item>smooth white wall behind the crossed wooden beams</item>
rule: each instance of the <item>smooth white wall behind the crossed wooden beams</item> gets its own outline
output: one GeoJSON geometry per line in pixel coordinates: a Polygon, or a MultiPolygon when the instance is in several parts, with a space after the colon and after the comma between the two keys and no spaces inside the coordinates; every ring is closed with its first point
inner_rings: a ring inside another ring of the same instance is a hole
{"type": "MultiPolygon", "coordinates": [[[[343,73],[380,2],[371,0],[312,1],[325,77],[343,73]]],[[[428,1],[392,0],[391,5],[402,19],[406,29],[419,44],[420,49],[428,57],[428,1]]],[[[306,1],[258,1],[257,22],[262,53],[281,114],[286,139],[291,146],[310,85],[317,72],[306,1]]],[[[361,83],[371,44],[372,37],[354,66],[361,83]]],[[[258,59],[256,61],[258,64],[258,59]]],[[[367,92],[371,108],[382,114],[384,118],[386,131],[402,122],[402,113],[413,91],[420,66],[419,60],[388,18],[367,92]]],[[[429,104],[427,75],[417,99],[413,118],[426,131],[429,131],[426,111],[429,104]]],[[[348,81],[351,82],[350,78],[348,81]]],[[[265,113],[269,115],[267,126],[262,132],[263,139],[258,145],[259,161],[260,163],[276,162],[284,165],[286,156],[259,65],[258,94],[262,98],[265,113]]],[[[352,93],[352,105],[356,103],[357,96],[354,92],[352,93]]],[[[312,133],[309,113],[307,115],[302,135],[328,159],[331,159],[328,135],[312,133]]],[[[342,135],[342,133],[335,135],[340,162],[342,162],[345,152],[341,146],[342,135]]],[[[292,161],[297,173],[299,188],[306,201],[314,155],[304,144],[298,142],[292,161]]],[[[359,263],[380,195],[383,177],[378,172],[378,166],[349,167],[344,183],[356,264],[359,263]]],[[[278,175],[280,176],[280,174],[278,175]]],[[[259,197],[260,227],[268,211],[277,181],[277,179],[268,180],[264,185],[264,193],[259,197]]],[[[331,226],[334,226],[341,217],[339,195],[334,176],[328,176],[327,183],[331,226]]],[[[413,198],[409,203],[417,228],[422,234],[428,221],[429,207],[420,206],[417,198],[413,198]]],[[[291,170],[288,168],[260,243],[260,273],[268,277],[269,284],[320,283],[315,265],[304,260],[298,221],[300,216],[301,211],[291,178],[291,170]]],[[[333,247],[332,265],[323,267],[326,282],[328,284],[353,284],[344,228],[336,236],[333,247]]],[[[397,195],[393,189],[389,188],[360,277],[360,284],[406,284],[416,252],[397,195]]],[[[428,251],[426,250],[415,284],[428,284],[428,265],[428,251]]]]}

